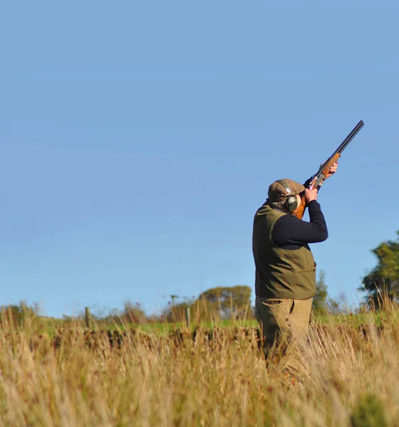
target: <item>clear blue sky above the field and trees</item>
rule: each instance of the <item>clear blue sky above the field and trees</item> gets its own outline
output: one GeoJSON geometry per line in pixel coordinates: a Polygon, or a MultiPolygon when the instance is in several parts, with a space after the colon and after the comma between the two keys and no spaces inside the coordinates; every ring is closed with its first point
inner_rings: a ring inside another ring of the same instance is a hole
{"type": "MultiPolygon", "coordinates": [[[[252,220],[359,120],[312,246],[358,302],[398,212],[398,1],[3,1],[0,305],[254,287],[252,220]]],[[[309,218],[306,214],[306,220],[309,218]]],[[[254,295],[254,292],[253,292],[254,295]]]]}

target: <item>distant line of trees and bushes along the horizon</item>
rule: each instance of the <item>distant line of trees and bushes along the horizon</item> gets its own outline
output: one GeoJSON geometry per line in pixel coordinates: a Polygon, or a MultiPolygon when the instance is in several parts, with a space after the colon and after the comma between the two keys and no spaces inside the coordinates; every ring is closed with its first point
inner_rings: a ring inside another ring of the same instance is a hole
{"type": "MultiPolygon", "coordinates": [[[[363,278],[359,291],[364,292],[364,306],[380,305],[381,297],[399,303],[399,231],[395,241],[383,241],[373,253],[377,258],[377,265],[363,278]]],[[[190,309],[190,316],[195,322],[209,322],[221,319],[253,319],[254,307],[251,305],[252,288],[247,285],[211,288],[202,292],[199,297],[180,298],[179,295],[170,295],[167,307],[160,315],[145,313],[140,304],[125,302],[121,310],[111,309],[93,310],[91,316],[96,322],[104,325],[131,325],[154,322],[183,322],[186,309],[190,309]],[[180,302],[179,302],[180,300],[180,302]],[[182,301],[181,301],[182,300],[182,301]]],[[[326,312],[336,313],[348,311],[345,297],[333,300],[328,296],[326,273],[321,270],[316,282],[314,296],[314,312],[325,315],[326,312]]],[[[358,307],[356,311],[361,311],[358,307]]],[[[39,306],[36,303],[28,305],[20,302],[19,305],[0,307],[1,324],[11,322],[12,325],[26,326],[26,323],[38,315],[39,306]]],[[[71,317],[63,316],[63,321],[83,320],[85,313],[71,317]]]]}

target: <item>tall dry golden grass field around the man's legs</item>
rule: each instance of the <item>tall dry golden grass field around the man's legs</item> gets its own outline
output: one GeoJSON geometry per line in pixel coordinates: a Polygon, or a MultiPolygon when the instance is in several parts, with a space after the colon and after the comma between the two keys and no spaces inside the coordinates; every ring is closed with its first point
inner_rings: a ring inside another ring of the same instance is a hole
{"type": "Polygon", "coordinates": [[[254,327],[38,334],[3,316],[1,426],[399,426],[398,307],[312,324],[301,376],[266,371],[254,327]]]}

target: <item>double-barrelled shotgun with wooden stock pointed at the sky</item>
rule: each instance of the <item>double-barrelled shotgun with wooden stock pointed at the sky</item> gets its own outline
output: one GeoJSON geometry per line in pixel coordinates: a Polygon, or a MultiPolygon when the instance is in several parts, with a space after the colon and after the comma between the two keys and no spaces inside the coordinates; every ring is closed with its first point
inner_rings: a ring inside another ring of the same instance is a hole
{"type": "MultiPolygon", "coordinates": [[[[361,130],[363,126],[364,123],[363,120],[361,120],[355,127],[353,127],[352,132],[343,140],[342,144],[336,149],[336,151],[333,152],[330,157],[328,157],[326,162],[321,164],[321,167],[318,169],[318,172],[315,175],[311,176],[311,178],[309,178],[305,182],[304,186],[306,189],[320,189],[333,163],[335,163],[338,158],[341,157],[341,153],[343,152],[343,150],[348,147],[349,142],[351,142],[351,140],[356,137],[356,134],[359,132],[359,130],[361,130]]],[[[301,204],[298,206],[298,208],[296,208],[293,214],[294,216],[296,216],[296,218],[302,219],[304,217],[306,209],[305,193],[302,192],[301,194],[299,194],[299,196],[301,196],[301,204]]]]}

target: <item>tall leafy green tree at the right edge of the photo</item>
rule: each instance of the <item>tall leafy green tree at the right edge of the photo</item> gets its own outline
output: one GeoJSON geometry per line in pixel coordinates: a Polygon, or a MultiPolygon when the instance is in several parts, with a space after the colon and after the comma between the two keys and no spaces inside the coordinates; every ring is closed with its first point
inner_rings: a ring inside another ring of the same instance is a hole
{"type": "MultiPolygon", "coordinates": [[[[380,303],[382,295],[394,302],[399,298],[399,231],[396,232],[396,241],[384,241],[373,249],[372,252],[378,259],[378,263],[368,275],[363,278],[363,286],[366,288],[370,299],[376,305],[380,303]]],[[[358,290],[364,290],[358,288],[358,290]]]]}

